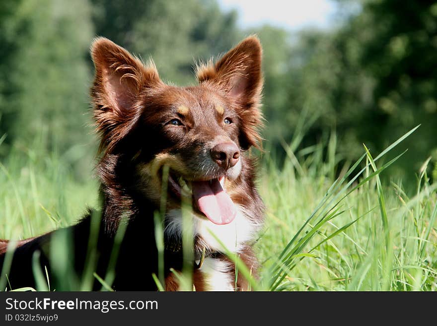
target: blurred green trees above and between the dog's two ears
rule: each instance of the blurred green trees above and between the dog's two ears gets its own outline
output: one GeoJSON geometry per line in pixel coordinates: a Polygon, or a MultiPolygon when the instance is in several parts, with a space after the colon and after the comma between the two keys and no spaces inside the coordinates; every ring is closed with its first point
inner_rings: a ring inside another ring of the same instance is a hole
{"type": "Polygon", "coordinates": [[[224,52],[239,38],[236,12],[223,13],[216,1],[92,0],[98,35],[147,60],[152,57],[161,78],[193,82],[195,60],[224,52]]]}

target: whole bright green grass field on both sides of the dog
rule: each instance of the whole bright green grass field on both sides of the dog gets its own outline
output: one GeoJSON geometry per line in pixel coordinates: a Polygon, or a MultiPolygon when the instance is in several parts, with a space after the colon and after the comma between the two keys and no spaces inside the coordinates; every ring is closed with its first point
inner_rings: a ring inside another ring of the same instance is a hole
{"type": "MultiPolygon", "coordinates": [[[[379,178],[390,174],[385,154],[403,148],[402,139],[383,153],[363,147],[361,160],[344,166],[334,134],[297,152],[295,138],[281,168],[262,155],[267,214],[255,244],[262,262],[255,289],[437,290],[437,184],[429,183],[427,162],[413,196],[401,181],[379,178]]],[[[66,226],[87,205],[97,207],[98,182],[89,173],[79,183],[59,155],[15,148],[0,164],[0,238],[66,226]]]]}

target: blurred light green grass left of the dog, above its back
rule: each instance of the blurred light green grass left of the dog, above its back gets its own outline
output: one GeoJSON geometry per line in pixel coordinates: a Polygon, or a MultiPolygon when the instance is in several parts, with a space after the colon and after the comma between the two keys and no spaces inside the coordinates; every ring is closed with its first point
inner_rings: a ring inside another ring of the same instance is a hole
{"type": "Polygon", "coordinates": [[[0,162],[0,239],[23,239],[71,225],[87,207],[98,205],[91,168],[87,181],[79,182],[65,157],[47,151],[46,138],[36,137],[26,149],[12,147],[0,162]]]}

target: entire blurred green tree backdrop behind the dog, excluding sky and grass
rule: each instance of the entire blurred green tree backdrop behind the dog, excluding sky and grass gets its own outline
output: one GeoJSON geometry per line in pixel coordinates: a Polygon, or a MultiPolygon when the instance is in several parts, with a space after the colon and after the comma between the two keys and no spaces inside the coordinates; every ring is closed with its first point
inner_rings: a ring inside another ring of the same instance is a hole
{"type": "MultiPolygon", "coordinates": [[[[437,162],[434,1],[338,1],[331,30],[289,32],[237,27],[216,0],[16,0],[0,6],[0,157],[24,150],[46,130],[45,145],[84,180],[95,149],[90,135],[88,47],[96,35],[152,57],[164,80],[195,83],[193,64],[257,33],[264,48],[264,138],[280,161],[301,112],[314,123],[300,148],[338,137],[338,162],[378,151],[413,126],[409,151],[390,175],[415,184],[422,162],[437,162]],[[83,160],[83,157],[86,159],[83,160]]],[[[394,152],[393,155],[398,153],[394,152]]],[[[324,153],[323,155],[326,155],[324,153]]],[[[281,164],[280,164],[281,165],[281,164]]],[[[410,187],[411,186],[411,187],[410,187]]]]}

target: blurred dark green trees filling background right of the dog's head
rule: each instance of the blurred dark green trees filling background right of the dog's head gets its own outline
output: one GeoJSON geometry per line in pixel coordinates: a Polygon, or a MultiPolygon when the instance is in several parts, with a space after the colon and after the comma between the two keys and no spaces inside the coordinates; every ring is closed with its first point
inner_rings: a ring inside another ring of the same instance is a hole
{"type": "MultiPolygon", "coordinates": [[[[276,72],[266,65],[266,81],[274,88],[266,85],[264,94],[272,127],[266,135],[280,147],[280,138],[291,138],[297,117],[305,111],[319,119],[303,145],[336,129],[339,157],[352,160],[363,152],[363,142],[378,152],[422,124],[404,143],[409,151],[397,169],[391,170],[402,176],[406,170],[417,171],[431,154],[437,159],[437,3],[359,3],[361,10],[354,6],[356,14],[337,29],[302,31],[290,51],[286,37],[278,42],[276,50],[289,58],[275,57],[281,67],[276,72]],[[285,100],[278,95],[279,87],[287,94],[285,100]]],[[[263,35],[263,29],[259,33],[263,35]]],[[[270,46],[265,48],[272,55],[270,46]]],[[[411,173],[408,177],[414,179],[411,173]]]]}

